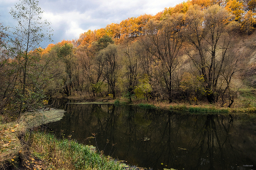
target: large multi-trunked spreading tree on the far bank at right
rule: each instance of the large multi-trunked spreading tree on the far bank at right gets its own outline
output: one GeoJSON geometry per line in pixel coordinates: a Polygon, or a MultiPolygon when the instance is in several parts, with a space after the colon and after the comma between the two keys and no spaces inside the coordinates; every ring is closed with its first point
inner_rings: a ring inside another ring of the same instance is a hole
{"type": "MultiPolygon", "coordinates": [[[[194,6],[186,14],[186,39],[191,45],[187,54],[197,69],[197,80],[203,87],[208,102],[218,100],[224,63],[233,42],[234,30],[238,27],[230,12],[214,5],[202,11],[194,6]]],[[[231,63],[230,63],[231,64],[231,63]]]]}

